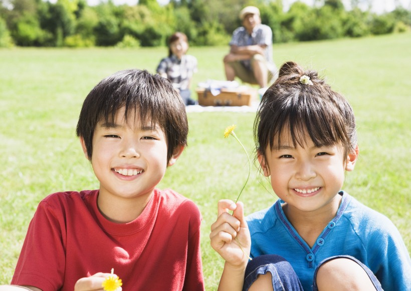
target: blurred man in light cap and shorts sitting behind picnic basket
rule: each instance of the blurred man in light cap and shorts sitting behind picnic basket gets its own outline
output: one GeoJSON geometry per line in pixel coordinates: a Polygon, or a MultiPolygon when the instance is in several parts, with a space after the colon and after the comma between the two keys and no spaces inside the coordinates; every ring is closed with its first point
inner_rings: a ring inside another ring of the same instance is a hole
{"type": "Polygon", "coordinates": [[[230,42],[231,50],[224,57],[228,81],[237,76],[243,82],[267,87],[276,78],[273,62],[273,32],[261,24],[260,10],[247,6],[240,12],[242,27],[237,28],[230,42]]]}

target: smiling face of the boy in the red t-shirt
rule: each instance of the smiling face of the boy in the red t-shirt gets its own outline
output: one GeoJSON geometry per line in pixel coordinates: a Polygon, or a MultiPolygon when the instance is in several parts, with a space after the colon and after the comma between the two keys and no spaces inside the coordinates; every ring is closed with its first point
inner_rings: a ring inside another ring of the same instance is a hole
{"type": "MultiPolygon", "coordinates": [[[[84,142],[82,145],[85,151],[84,142]]],[[[169,165],[181,151],[176,151],[169,165]]],[[[100,181],[99,198],[148,199],[167,168],[166,137],[157,126],[143,127],[134,113],[130,113],[127,124],[123,107],[117,111],[112,124],[97,124],[91,164],[100,181]]]]}

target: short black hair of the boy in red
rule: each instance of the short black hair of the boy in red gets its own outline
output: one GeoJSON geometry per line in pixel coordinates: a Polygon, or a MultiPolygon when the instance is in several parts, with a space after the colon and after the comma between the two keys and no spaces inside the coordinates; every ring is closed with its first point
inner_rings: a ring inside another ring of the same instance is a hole
{"type": "Polygon", "coordinates": [[[142,125],[158,125],[166,136],[167,163],[178,146],[187,145],[188,123],[185,105],[172,84],[146,70],[124,70],[103,79],[84,100],[77,123],[77,136],[84,139],[88,158],[93,151],[93,134],[100,122],[114,120],[125,107],[124,120],[139,113],[142,125]]]}

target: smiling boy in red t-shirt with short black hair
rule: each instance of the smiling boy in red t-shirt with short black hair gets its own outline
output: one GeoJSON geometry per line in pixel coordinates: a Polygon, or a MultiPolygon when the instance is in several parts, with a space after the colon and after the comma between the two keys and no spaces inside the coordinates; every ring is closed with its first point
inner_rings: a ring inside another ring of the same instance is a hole
{"type": "Polygon", "coordinates": [[[98,190],[46,197],[2,290],[100,290],[114,268],[124,290],[203,290],[200,213],[156,185],[182,153],[185,107],[171,83],[124,70],[87,96],[77,136],[98,190]],[[103,273],[104,272],[104,273],[103,273]]]}

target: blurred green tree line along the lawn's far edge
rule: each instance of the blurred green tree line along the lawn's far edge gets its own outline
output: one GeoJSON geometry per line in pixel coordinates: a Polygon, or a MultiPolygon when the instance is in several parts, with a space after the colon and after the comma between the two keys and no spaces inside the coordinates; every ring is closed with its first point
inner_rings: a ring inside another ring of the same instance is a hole
{"type": "Polygon", "coordinates": [[[385,14],[358,8],[352,0],[345,10],[341,0],[316,0],[313,7],[293,3],[284,11],[281,0],[139,0],[135,6],[112,0],[89,6],[86,0],[0,0],[0,47],[163,46],[175,31],[184,32],[191,45],[228,44],[241,26],[239,11],[260,8],[263,24],[273,30],[273,42],[312,41],[405,32],[411,11],[397,7],[385,14]]]}

